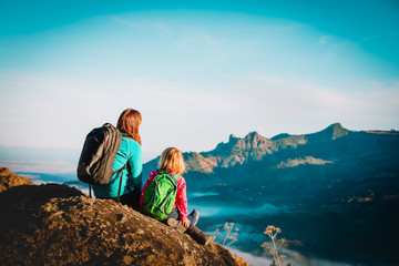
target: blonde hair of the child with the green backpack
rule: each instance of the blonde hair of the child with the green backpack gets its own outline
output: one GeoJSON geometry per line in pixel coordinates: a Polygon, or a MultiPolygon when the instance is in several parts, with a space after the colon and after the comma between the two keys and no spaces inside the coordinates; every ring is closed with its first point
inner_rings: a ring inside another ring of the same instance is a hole
{"type": "Polygon", "coordinates": [[[182,174],[184,172],[183,154],[176,147],[168,147],[161,154],[158,168],[166,173],[175,172],[182,174]]]}

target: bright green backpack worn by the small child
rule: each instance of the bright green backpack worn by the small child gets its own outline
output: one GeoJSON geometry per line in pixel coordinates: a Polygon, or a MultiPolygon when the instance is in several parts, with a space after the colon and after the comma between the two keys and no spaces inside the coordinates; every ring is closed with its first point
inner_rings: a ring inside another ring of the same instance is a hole
{"type": "Polygon", "coordinates": [[[178,174],[171,175],[162,171],[144,192],[143,211],[158,221],[167,218],[176,202],[178,174]]]}

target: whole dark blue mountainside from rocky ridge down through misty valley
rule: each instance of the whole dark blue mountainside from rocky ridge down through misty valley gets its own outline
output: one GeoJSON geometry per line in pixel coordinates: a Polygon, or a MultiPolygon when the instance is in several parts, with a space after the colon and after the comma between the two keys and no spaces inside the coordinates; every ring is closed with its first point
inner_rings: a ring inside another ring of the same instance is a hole
{"type": "MultiPolygon", "coordinates": [[[[205,209],[204,226],[231,221],[263,232],[274,224],[303,243],[295,250],[305,257],[399,264],[393,248],[399,237],[399,132],[351,131],[339,123],[272,139],[250,132],[242,139],[231,135],[212,151],[183,155],[188,205],[205,209]]],[[[157,160],[144,165],[144,176],[157,160]]],[[[263,252],[257,235],[235,247],[263,252]]]]}

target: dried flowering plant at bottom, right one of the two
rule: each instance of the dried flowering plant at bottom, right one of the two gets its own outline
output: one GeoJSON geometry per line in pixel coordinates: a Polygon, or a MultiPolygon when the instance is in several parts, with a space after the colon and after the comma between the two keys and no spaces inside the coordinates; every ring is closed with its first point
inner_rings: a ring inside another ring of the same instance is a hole
{"type": "MultiPolygon", "coordinates": [[[[282,229],[278,227],[275,227],[273,225],[268,225],[264,232],[265,235],[267,235],[270,241],[265,242],[262,244],[262,247],[265,248],[265,252],[267,255],[273,257],[273,264],[272,265],[278,265],[282,266],[284,259],[286,259],[285,255],[278,255],[278,249],[284,245],[285,239],[277,239],[277,234],[282,233],[282,229]]],[[[290,265],[290,264],[289,264],[290,265]]]]}

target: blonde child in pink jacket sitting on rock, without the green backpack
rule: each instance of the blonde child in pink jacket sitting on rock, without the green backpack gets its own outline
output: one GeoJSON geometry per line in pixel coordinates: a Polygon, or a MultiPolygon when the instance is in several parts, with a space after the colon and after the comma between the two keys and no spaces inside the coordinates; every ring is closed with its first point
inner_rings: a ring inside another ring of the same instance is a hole
{"type": "Polygon", "coordinates": [[[140,207],[143,209],[145,190],[154,177],[162,172],[171,175],[178,175],[176,202],[171,214],[168,214],[167,218],[163,222],[180,232],[185,232],[200,244],[207,245],[212,243],[215,239],[215,236],[206,234],[195,226],[198,221],[198,212],[194,209],[190,215],[187,215],[186,183],[184,177],[181,175],[184,172],[183,154],[175,147],[166,149],[161,155],[158,170],[150,173],[141,194],[140,207]]]}

